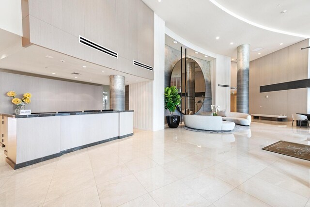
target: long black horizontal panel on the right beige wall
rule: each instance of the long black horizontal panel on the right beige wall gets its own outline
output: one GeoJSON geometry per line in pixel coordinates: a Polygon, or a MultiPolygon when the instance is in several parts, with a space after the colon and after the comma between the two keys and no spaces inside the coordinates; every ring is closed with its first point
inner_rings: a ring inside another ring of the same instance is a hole
{"type": "Polygon", "coordinates": [[[310,79],[294,80],[271,85],[263,85],[260,86],[260,93],[270,91],[283,91],[297,88],[310,88],[310,79]]]}

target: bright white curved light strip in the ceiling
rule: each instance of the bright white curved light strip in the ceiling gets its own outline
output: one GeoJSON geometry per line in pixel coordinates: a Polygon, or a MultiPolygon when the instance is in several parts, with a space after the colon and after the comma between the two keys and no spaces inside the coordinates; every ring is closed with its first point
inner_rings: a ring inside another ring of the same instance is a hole
{"type": "Polygon", "coordinates": [[[296,37],[302,37],[302,38],[307,38],[309,39],[310,36],[309,35],[303,35],[303,34],[297,34],[297,33],[293,33],[293,32],[286,32],[286,31],[282,31],[282,30],[278,30],[278,29],[275,29],[275,28],[271,28],[271,27],[266,27],[266,26],[263,26],[261,24],[257,24],[255,22],[252,22],[242,16],[239,16],[235,13],[233,13],[232,11],[230,11],[229,9],[225,8],[224,6],[222,6],[221,4],[219,4],[216,0],[209,0],[210,2],[212,2],[214,5],[216,5],[218,8],[220,8],[221,10],[223,10],[224,12],[226,12],[227,14],[241,20],[241,21],[244,21],[250,25],[253,25],[255,27],[258,27],[258,28],[261,28],[261,29],[264,29],[264,30],[268,30],[268,31],[271,31],[271,32],[278,32],[278,33],[281,33],[281,34],[287,34],[287,35],[292,35],[292,36],[296,36],[296,37]]]}

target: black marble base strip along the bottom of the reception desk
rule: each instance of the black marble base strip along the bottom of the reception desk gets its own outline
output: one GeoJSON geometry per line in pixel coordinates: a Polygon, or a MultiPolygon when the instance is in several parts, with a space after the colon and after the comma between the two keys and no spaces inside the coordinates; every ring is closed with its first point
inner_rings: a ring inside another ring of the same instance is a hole
{"type": "Polygon", "coordinates": [[[77,150],[80,150],[80,149],[84,149],[84,148],[87,148],[87,147],[91,147],[91,146],[94,146],[94,145],[97,145],[97,144],[101,144],[101,143],[107,143],[107,142],[110,142],[110,141],[113,141],[113,140],[117,140],[117,139],[123,139],[125,137],[129,137],[129,136],[132,136],[132,135],[134,135],[134,133],[126,134],[126,135],[119,136],[119,137],[112,137],[112,138],[109,138],[109,139],[106,139],[106,140],[101,140],[101,141],[98,141],[98,142],[85,144],[85,145],[74,147],[74,148],[71,148],[71,149],[62,150],[60,153],[56,153],[56,154],[53,154],[53,155],[48,155],[48,156],[45,156],[45,157],[42,157],[42,158],[38,158],[38,159],[32,159],[32,160],[29,160],[27,162],[22,162],[22,163],[18,163],[18,164],[14,163],[9,158],[6,158],[5,161],[14,170],[16,170],[16,169],[19,169],[19,168],[22,168],[22,167],[26,167],[26,166],[29,166],[29,165],[33,165],[33,164],[36,164],[36,163],[39,163],[39,162],[46,161],[48,159],[57,158],[57,157],[60,157],[60,156],[62,156],[64,154],[67,154],[67,153],[70,153],[70,152],[74,152],[74,151],[77,151],[77,150]]]}

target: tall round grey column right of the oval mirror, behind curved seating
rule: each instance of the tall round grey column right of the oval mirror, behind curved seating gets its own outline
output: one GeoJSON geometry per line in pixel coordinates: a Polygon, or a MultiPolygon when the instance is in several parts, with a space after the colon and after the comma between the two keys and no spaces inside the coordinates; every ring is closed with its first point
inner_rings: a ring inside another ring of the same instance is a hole
{"type": "Polygon", "coordinates": [[[249,44],[237,48],[237,112],[241,113],[248,113],[249,50],[249,44]]]}

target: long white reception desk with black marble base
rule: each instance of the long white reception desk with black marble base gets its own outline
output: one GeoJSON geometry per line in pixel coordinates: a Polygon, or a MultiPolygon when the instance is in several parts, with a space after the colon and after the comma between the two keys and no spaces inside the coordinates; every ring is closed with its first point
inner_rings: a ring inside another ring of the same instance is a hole
{"type": "Polygon", "coordinates": [[[133,111],[8,117],[7,158],[14,169],[133,135],[133,111]]]}

